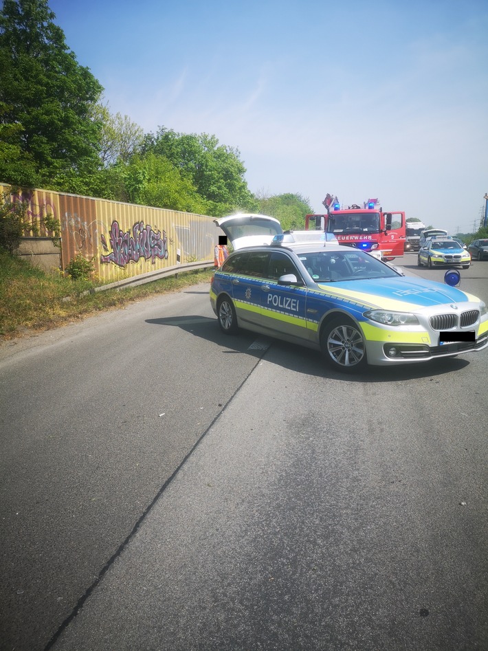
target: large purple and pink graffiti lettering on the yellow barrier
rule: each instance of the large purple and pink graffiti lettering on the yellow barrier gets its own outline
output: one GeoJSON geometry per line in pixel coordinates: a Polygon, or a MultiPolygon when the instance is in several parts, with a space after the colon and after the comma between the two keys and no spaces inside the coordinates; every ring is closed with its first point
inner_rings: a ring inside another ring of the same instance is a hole
{"type": "Polygon", "coordinates": [[[102,235],[102,247],[107,255],[100,256],[102,263],[115,263],[118,267],[125,267],[129,263],[137,263],[140,258],[151,260],[168,259],[168,239],[166,232],[154,230],[152,226],[144,225],[144,221],[137,221],[132,230],[122,231],[118,221],[113,221],[110,231],[110,246],[102,235]]]}

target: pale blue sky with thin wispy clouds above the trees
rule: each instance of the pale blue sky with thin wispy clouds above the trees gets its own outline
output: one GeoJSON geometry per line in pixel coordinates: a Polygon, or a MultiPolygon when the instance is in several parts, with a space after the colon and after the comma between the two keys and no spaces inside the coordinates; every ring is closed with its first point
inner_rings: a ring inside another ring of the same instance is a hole
{"type": "Polygon", "coordinates": [[[472,232],[488,192],[486,0],[49,0],[111,113],[238,148],[249,189],[472,232]]]}

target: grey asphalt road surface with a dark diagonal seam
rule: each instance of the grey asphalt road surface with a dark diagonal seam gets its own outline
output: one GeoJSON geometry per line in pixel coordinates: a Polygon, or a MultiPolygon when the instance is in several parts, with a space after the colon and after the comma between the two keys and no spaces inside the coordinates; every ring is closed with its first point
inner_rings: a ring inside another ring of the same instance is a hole
{"type": "Polygon", "coordinates": [[[3,346],[1,649],[488,649],[487,361],[344,377],[202,286],[3,346]]]}

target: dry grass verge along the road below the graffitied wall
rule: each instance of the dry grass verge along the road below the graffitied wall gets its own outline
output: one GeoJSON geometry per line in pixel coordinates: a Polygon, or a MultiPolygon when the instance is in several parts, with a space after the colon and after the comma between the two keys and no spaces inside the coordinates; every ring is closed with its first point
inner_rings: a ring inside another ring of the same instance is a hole
{"type": "Polygon", "coordinates": [[[210,283],[212,269],[184,272],[138,287],[107,289],[81,296],[102,283],[48,274],[0,250],[0,341],[45,331],[97,311],[116,309],[158,294],[210,283]],[[63,300],[67,297],[70,300],[63,300]]]}

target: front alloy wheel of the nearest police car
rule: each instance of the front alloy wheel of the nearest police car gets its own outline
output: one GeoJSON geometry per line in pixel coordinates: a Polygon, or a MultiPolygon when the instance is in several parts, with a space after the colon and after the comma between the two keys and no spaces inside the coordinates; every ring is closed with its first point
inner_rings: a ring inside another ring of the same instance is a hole
{"type": "Polygon", "coordinates": [[[366,366],[366,346],[359,327],[345,317],[326,325],[321,338],[322,353],[338,371],[353,373],[366,366]]]}

